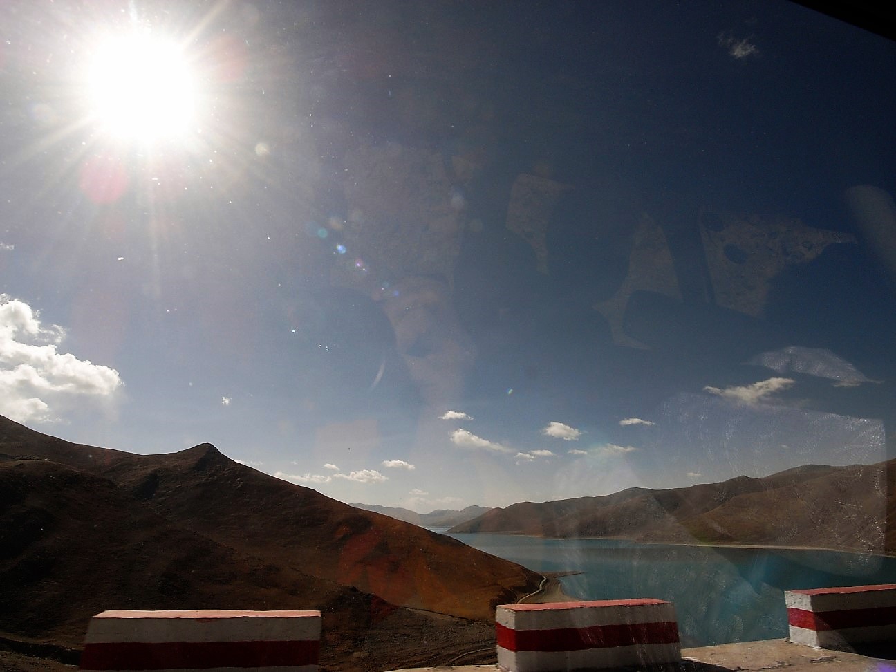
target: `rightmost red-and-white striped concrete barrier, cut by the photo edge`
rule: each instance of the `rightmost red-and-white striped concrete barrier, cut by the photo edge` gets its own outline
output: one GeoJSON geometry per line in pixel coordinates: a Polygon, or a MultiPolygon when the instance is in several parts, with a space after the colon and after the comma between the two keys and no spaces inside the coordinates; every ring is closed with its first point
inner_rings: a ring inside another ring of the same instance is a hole
{"type": "Polygon", "coordinates": [[[788,590],[790,641],[815,649],[896,642],[896,583],[788,590]]]}

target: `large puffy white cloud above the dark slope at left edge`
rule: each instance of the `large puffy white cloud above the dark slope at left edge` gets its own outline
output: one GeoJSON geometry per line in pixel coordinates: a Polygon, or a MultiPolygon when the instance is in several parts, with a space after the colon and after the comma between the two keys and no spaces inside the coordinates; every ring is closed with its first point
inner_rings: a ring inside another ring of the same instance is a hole
{"type": "Polygon", "coordinates": [[[0,414],[48,422],[53,409],[110,398],[121,387],[115,369],[58,352],[64,339],[62,327],[41,324],[28,304],[0,294],[0,414]]]}

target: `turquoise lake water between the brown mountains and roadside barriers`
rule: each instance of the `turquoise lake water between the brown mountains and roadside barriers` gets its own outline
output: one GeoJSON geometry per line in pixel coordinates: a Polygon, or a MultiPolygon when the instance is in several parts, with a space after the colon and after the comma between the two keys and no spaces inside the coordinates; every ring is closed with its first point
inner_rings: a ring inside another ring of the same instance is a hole
{"type": "Polygon", "coordinates": [[[504,534],[448,536],[535,572],[581,572],[561,579],[574,598],[667,599],[675,604],[684,647],[786,637],[784,590],[896,583],[896,558],[883,556],[504,534]]]}

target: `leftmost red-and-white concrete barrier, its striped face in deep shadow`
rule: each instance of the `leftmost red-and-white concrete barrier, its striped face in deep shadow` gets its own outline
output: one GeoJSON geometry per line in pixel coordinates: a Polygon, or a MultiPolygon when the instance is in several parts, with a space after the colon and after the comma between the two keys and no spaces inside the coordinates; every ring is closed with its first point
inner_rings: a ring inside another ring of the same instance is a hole
{"type": "Polygon", "coordinates": [[[316,672],[319,611],[104,611],[81,669],[316,672]]]}

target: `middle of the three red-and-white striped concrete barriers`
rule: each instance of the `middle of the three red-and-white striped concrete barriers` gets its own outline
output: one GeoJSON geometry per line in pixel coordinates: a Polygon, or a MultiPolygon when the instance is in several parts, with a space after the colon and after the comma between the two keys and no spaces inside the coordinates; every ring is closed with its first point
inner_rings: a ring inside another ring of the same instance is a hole
{"type": "Polygon", "coordinates": [[[661,599],[502,605],[495,639],[511,672],[681,662],[675,607],[661,599]]]}

